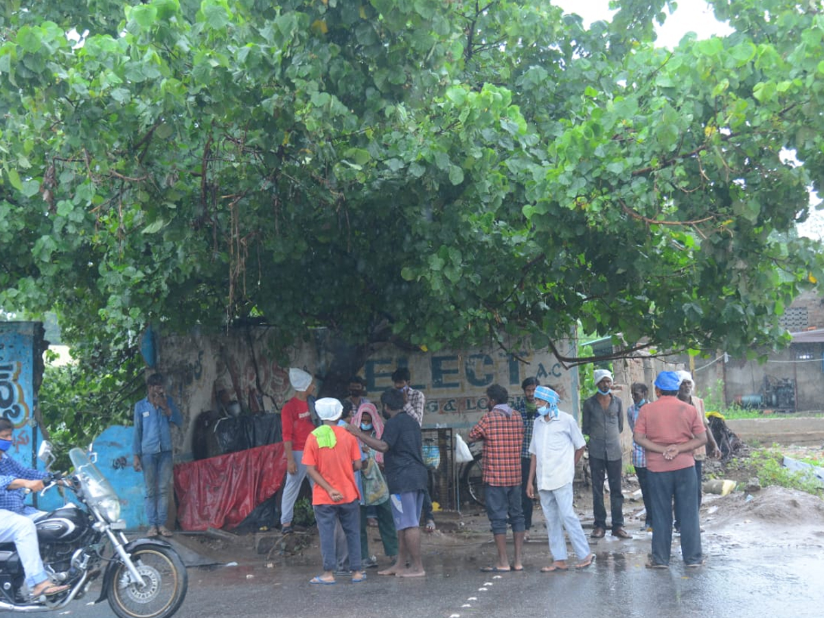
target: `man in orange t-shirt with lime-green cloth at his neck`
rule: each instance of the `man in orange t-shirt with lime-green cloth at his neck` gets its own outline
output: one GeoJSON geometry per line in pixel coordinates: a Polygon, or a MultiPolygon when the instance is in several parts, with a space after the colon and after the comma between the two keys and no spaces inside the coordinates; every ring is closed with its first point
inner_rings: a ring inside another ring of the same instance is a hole
{"type": "Polygon", "coordinates": [[[315,481],[312,488],[312,508],[315,511],[318,536],[321,537],[323,573],[310,583],[335,583],[335,523],[344,529],[349,548],[349,568],[353,583],[363,582],[360,550],[360,492],[355,471],[361,468],[358,440],[346,429],[337,426],[344,410],[339,400],[324,397],[315,402],[315,410],[323,424],[309,434],[303,449],[303,464],[315,481]]]}

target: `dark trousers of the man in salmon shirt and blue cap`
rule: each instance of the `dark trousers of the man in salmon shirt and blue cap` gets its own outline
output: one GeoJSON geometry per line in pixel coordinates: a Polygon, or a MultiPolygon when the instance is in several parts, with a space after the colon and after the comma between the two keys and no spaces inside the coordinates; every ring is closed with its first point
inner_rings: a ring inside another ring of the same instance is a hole
{"type": "Polygon", "coordinates": [[[653,562],[669,564],[672,545],[672,501],[678,500],[681,520],[681,557],[686,564],[701,561],[701,529],[695,467],[647,474],[649,499],[653,505],[653,562]]]}

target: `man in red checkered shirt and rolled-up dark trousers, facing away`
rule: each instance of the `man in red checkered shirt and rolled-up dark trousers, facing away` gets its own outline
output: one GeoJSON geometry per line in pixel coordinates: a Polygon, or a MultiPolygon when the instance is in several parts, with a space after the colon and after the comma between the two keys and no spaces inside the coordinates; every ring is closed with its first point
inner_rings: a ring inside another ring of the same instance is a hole
{"type": "Polygon", "coordinates": [[[486,389],[488,412],[472,428],[467,442],[484,441],[483,480],[486,515],[492,527],[498,562],[481,569],[485,572],[521,571],[524,519],[521,505],[521,414],[507,405],[509,393],[493,384],[486,389]],[[513,528],[515,558],[510,566],[507,556],[507,520],[513,528]]]}

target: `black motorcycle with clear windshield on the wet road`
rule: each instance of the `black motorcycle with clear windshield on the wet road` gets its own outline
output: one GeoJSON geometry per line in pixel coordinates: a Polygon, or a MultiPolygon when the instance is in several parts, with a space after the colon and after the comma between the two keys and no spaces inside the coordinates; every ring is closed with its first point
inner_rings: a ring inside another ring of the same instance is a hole
{"type": "MultiPolygon", "coordinates": [[[[54,462],[51,445],[43,442],[38,457],[49,471],[54,462]]],[[[0,611],[54,611],[81,599],[103,575],[100,597],[119,618],[168,618],[183,603],[189,585],[185,565],[174,548],[159,539],[129,541],[120,519],[120,501],[93,459],[73,448],[74,470],[62,475],[49,471],[41,495],[58,485],[71,489],[82,506],[67,503],[35,519],[40,555],[55,583],[68,584],[65,592],[30,600],[24,592],[25,574],[12,543],[0,544],[0,611]],[[106,545],[110,557],[104,556],[106,545]]]]}

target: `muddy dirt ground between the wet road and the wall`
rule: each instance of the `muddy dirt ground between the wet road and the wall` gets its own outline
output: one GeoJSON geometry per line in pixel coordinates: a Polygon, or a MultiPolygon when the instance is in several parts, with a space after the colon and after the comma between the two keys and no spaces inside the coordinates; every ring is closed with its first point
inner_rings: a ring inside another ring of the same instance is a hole
{"type": "MultiPolygon", "coordinates": [[[[802,459],[821,457],[820,447],[782,447],[788,456],[802,459]]],[[[747,466],[746,456],[722,466],[716,461],[705,462],[705,480],[714,478],[734,480],[739,488],[755,476],[747,466]]],[[[625,477],[625,528],[637,541],[648,541],[648,533],[640,531],[644,522],[644,503],[634,475],[625,477]]],[[[592,492],[588,486],[576,484],[575,508],[585,531],[592,527],[592,492]]],[[[781,487],[741,489],[726,496],[705,494],[701,506],[701,527],[708,540],[722,543],[762,543],[764,539],[776,542],[813,541],[824,543],[824,500],[812,494],[781,487]]],[[[494,545],[489,534],[489,522],[483,508],[465,503],[460,512],[436,513],[438,530],[422,534],[425,560],[444,556],[463,559],[468,563],[485,564],[494,557],[494,545]]],[[[539,504],[533,512],[533,528],[525,548],[525,558],[543,560],[547,555],[546,531],[539,504]]],[[[381,565],[386,564],[377,528],[368,528],[370,549],[381,565]]],[[[219,534],[219,531],[218,531],[219,534]]],[[[250,564],[273,569],[289,564],[318,564],[321,561],[317,532],[314,528],[283,537],[278,531],[265,531],[243,536],[225,535],[223,538],[184,533],[175,540],[203,556],[213,564],[250,564]]],[[[639,550],[644,550],[643,547],[639,550]]]]}

